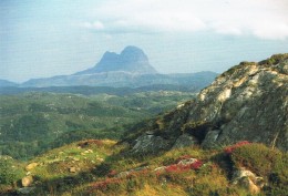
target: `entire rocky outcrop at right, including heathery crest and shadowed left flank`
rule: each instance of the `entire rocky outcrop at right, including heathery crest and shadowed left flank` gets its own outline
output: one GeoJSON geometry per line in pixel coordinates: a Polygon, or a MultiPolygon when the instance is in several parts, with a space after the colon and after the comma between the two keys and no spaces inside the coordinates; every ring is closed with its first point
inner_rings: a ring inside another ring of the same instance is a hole
{"type": "MultiPolygon", "coordinates": [[[[165,138],[167,145],[154,142],[153,151],[179,145],[183,133],[204,148],[249,141],[288,151],[288,54],[241,62],[202,90],[196,100],[143,130],[152,132],[150,138],[165,138]]],[[[151,143],[137,136],[143,146],[151,143]]]]}

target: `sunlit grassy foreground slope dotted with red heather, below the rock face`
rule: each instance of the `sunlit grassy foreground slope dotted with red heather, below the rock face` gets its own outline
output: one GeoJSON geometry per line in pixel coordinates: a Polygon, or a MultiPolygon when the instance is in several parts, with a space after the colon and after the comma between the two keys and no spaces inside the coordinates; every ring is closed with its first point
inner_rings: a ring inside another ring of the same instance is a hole
{"type": "Polygon", "coordinates": [[[124,144],[90,140],[49,151],[25,165],[38,163],[29,169],[37,184],[31,195],[246,196],[253,194],[232,183],[235,168],[245,167],[264,177],[267,185],[259,195],[285,195],[287,162],[287,153],[263,144],[236,145],[229,154],[227,147],[204,151],[194,146],[135,156],[124,144]],[[177,166],[186,158],[197,158],[202,165],[177,166]],[[163,169],[155,171],[160,167],[163,169]]]}

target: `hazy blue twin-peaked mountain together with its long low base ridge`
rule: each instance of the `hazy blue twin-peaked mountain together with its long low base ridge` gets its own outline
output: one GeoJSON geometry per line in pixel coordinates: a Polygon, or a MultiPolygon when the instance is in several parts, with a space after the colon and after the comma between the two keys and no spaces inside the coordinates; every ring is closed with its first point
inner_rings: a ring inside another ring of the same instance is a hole
{"type": "MultiPolygon", "coordinates": [[[[181,72],[181,71],[179,71],[181,72]]],[[[21,86],[113,86],[140,87],[152,85],[177,85],[199,90],[213,82],[217,74],[198,72],[185,74],[160,74],[147,55],[136,47],[126,47],[120,54],[105,52],[95,66],[72,75],[32,79],[21,86]]]]}

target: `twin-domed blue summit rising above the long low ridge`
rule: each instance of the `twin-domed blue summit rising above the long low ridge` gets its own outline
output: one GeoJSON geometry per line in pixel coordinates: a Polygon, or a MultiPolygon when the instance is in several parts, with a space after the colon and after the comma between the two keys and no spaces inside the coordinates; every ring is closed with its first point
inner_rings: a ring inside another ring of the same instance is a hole
{"type": "Polygon", "coordinates": [[[147,55],[137,47],[126,47],[121,54],[105,52],[101,61],[91,69],[75,73],[95,74],[103,72],[130,72],[137,74],[155,74],[156,70],[150,64],[147,55]]]}

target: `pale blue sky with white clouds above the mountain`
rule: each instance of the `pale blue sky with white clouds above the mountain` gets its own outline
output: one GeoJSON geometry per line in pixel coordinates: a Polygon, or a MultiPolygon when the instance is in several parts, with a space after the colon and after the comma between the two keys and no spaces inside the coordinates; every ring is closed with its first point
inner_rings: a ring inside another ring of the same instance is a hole
{"type": "Polygon", "coordinates": [[[223,72],[288,52],[288,0],[0,0],[0,79],[72,74],[144,50],[160,73],[223,72]]]}

